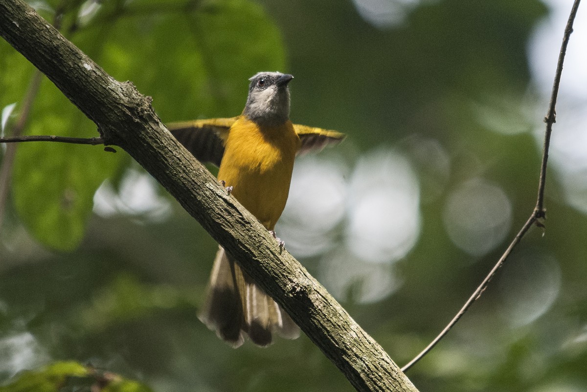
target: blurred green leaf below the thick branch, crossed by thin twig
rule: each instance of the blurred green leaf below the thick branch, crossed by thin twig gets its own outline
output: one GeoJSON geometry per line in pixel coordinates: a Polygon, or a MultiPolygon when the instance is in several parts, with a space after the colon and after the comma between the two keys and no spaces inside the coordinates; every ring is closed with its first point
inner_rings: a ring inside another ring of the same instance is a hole
{"type": "MultiPolygon", "coordinates": [[[[27,134],[96,136],[96,126],[52,83],[39,92],[27,134]]],[[[101,146],[23,143],[16,152],[13,196],[16,211],[42,244],[72,251],[82,240],[93,195],[116,173],[123,154],[101,146]]]]}

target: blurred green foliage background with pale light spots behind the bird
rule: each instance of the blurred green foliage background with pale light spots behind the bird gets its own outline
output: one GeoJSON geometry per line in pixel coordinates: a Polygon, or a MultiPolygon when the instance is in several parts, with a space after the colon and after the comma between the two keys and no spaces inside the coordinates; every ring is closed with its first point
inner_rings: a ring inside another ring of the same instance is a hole
{"type": "MultiPolygon", "coordinates": [[[[296,162],[276,231],[400,366],[454,316],[536,201],[571,0],[31,2],[164,122],[231,117],[295,76],[295,123],[344,143],[296,162]],[[58,17],[56,18],[56,15],[58,17]]],[[[532,228],[420,391],[587,389],[587,12],[571,36],[532,228]]],[[[0,42],[2,133],[96,127],[0,42]]],[[[197,317],[217,245],[117,148],[0,146],[0,385],[60,360],[154,391],[350,391],[307,337],[222,343],[197,317]]],[[[214,173],[214,168],[210,168],[214,173]]]]}

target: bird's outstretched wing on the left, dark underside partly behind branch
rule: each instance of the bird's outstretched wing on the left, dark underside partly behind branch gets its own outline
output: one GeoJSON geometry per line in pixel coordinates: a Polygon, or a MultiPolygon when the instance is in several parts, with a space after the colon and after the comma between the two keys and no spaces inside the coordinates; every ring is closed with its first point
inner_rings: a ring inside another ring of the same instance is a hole
{"type": "Polygon", "coordinates": [[[228,130],[237,117],[168,124],[167,129],[202,163],[220,167],[228,130]]]}

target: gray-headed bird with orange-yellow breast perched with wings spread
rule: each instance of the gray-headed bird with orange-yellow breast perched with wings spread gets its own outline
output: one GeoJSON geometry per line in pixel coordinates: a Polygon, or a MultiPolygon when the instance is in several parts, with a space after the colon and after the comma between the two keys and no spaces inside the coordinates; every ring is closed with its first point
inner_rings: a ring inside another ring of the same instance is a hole
{"type": "MultiPolygon", "coordinates": [[[[219,167],[218,181],[274,236],[288,198],[295,157],[345,138],[337,131],[292,123],[288,85],[293,78],[281,72],[259,72],[249,79],[240,116],[167,126],[198,160],[219,167]]],[[[285,339],[299,336],[291,317],[220,245],[198,318],[235,348],[246,336],[262,347],[272,343],[274,334],[285,339]]]]}

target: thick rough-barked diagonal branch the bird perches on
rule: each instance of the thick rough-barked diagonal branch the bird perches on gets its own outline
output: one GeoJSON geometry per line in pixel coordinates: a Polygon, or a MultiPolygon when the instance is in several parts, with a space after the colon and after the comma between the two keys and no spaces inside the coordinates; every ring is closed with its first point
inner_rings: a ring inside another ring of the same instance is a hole
{"type": "Polygon", "coordinates": [[[259,285],[284,307],[359,391],[417,391],[326,289],[158,119],[149,97],[120,83],[21,0],[0,0],[0,35],[59,87],[175,197],[259,285]]]}

